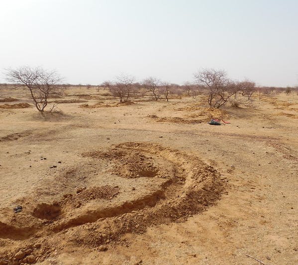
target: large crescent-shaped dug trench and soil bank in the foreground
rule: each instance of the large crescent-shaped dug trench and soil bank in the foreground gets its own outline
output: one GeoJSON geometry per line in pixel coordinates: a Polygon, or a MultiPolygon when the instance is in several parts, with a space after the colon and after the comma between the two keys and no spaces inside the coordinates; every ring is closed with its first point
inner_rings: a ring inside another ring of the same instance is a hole
{"type": "Polygon", "coordinates": [[[0,210],[1,264],[41,262],[65,245],[98,248],[126,233],[183,221],[220,198],[224,179],[193,155],[129,142],[84,153],[79,166],[43,185],[15,201],[21,212],[0,210]]]}

